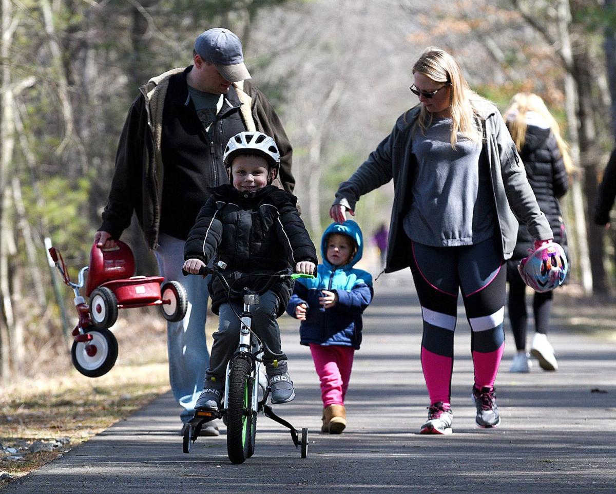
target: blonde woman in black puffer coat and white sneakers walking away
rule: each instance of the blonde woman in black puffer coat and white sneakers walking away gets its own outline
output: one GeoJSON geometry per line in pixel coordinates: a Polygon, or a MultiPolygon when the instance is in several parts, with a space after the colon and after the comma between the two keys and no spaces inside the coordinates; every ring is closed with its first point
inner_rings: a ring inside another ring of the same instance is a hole
{"type": "MultiPolygon", "coordinates": [[[[558,199],[569,188],[568,172],[573,165],[569,147],[562,139],[558,124],[543,100],[532,92],[516,94],[505,111],[505,123],[520,153],[526,175],[529,179],[541,211],[549,221],[554,241],[566,252],[567,235],[562,221],[561,206],[558,199]]],[[[526,352],[527,311],[526,285],[517,265],[522,257],[528,256],[533,246],[533,237],[525,225],[517,232],[517,244],[513,257],[507,261],[507,281],[509,282],[509,321],[516,340],[517,353],[511,362],[510,372],[529,372],[532,362],[526,352]]],[[[543,370],[555,371],[558,368],[554,349],[548,341],[549,317],[552,308],[552,292],[533,295],[533,315],[535,335],[530,353],[537,357],[543,370]]]]}

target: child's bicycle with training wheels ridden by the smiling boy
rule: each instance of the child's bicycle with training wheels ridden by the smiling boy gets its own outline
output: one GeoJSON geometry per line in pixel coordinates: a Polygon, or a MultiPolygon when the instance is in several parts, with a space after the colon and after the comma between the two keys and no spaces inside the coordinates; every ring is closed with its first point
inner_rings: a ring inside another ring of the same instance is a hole
{"type": "MultiPolygon", "coordinates": [[[[256,334],[251,331],[252,315],[250,307],[259,304],[259,295],[269,290],[275,281],[282,279],[294,280],[300,277],[312,278],[312,275],[291,273],[290,270],[282,270],[272,274],[259,274],[251,276],[269,277],[269,281],[259,291],[233,290],[221,273],[227,265],[219,261],[214,267],[202,267],[199,274],[213,274],[227,290],[227,294],[241,296],[244,300],[244,310],[238,317],[241,318],[240,344],[235,354],[227,364],[225,378],[225,392],[221,410],[203,411],[196,410],[195,416],[184,429],[184,453],[190,452],[190,443],[195,442],[203,424],[222,418],[227,424],[227,454],[231,463],[240,464],[250,458],[254,453],[255,435],[257,431],[257,413],[262,411],[265,416],[282,424],[291,431],[291,438],[295,447],[301,446],[301,457],[308,455],[308,429],[303,427],[301,437],[299,432],[286,420],[278,417],[269,405],[266,405],[269,397],[269,386],[264,388],[263,397],[259,400],[259,378],[264,379],[260,372],[263,363],[263,351],[261,342],[256,334]]],[[[188,274],[184,272],[184,274],[188,274]]],[[[233,283],[232,283],[233,285],[233,283]]]]}

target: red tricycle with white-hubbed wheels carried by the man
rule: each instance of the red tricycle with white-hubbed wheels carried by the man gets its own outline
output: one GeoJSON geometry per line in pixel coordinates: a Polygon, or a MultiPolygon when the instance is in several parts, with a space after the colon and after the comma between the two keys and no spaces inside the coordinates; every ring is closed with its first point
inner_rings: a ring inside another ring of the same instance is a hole
{"type": "Polygon", "coordinates": [[[168,321],[184,318],[188,298],[178,281],[164,281],[160,276],[133,276],[135,258],[131,248],[116,240],[116,247],[101,249],[92,245],[90,265],[79,270],[78,281],[70,280],[60,251],[49,248],[49,255],[64,283],[75,291],[79,322],[73,330],[71,359],[84,376],[97,378],[111,370],[118,358],[118,341],[108,328],[118,318],[118,309],[158,306],[168,321]],[[79,293],[87,274],[85,296],[79,293]]]}

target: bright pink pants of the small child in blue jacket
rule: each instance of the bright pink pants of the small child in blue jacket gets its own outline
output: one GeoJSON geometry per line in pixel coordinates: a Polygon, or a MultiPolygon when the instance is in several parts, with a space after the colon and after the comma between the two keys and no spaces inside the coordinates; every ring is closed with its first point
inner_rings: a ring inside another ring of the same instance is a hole
{"type": "Polygon", "coordinates": [[[321,381],[323,408],[344,405],[353,367],[353,347],[321,346],[310,343],[314,368],[321,381]]]}

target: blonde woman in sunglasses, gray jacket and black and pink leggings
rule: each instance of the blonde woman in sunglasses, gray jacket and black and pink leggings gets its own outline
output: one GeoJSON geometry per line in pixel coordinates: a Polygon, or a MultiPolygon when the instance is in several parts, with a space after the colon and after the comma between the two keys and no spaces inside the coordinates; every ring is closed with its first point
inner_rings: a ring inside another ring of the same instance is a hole
{"type": "Polygon", "coordinates": [[[419,104],[340,185],[330,216],[343,222],[362,195],[394,180],[385,271],[410,267],[421,303],[421,364],[430,406],[419,432],[452,432],[460,290],[472,330],[476,424],[496,427],[494,382],[505,344],[501,268],[516,245],[516,216],[538,243],[551,240],[552,230],[503,118],[469,89],[450,54],[426,49],[413,66],[410,89],[419,104]]]}

